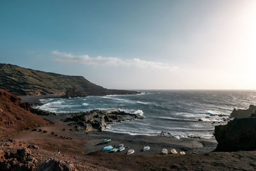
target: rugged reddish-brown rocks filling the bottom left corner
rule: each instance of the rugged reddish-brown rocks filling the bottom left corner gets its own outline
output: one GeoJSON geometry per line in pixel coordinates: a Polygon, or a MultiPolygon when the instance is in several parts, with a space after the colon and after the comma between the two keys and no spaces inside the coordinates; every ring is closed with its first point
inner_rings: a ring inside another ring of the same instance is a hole
{"type": "Polygon", "coordinates": [[[61,159],[60,156],[55,156],[55,158],[44,159],[44,161],[40,155],[41,152],[44,152],[44,158],[54,156],[50,151],[40,150],[35,144],[26,144],[12,139],[0,139],[0,170],[77,170],[72,160],[67,156],[61,159]]]}

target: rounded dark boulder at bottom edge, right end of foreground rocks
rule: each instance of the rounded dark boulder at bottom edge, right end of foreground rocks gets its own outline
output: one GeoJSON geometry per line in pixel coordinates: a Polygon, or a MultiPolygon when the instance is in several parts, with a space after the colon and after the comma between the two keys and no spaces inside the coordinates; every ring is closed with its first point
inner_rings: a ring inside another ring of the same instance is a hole
{"type": "Polygon", "coordinates": [[[58,170],[58,171],[75,171],[76,167],[68,161],[62,161],[62,160],[54,160],[49,159],[45,160],[43,163],[41,163],[38,168],[36,168],[36,171],[51,171],[51,170],[58,170]]]}

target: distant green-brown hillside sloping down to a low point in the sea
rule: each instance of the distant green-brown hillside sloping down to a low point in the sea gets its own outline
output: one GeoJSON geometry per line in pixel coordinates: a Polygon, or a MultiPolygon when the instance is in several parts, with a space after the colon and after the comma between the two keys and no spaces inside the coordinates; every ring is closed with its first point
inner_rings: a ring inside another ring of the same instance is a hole
{"type": "Polygon", "coordinates": [[[13,64],[0,63],[0,73],[0,88],[17,96],[65,94],[67,91],[72,97],[137,94],[136,91],[105,89],[80,76],[31,70],[13,64]]]}

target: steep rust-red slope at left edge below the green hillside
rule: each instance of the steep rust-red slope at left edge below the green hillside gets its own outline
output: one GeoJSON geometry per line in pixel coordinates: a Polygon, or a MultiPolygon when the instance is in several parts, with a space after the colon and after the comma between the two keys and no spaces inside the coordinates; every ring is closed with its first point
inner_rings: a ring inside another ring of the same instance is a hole
{"type": "Polygon", "coordinates": [[[51,123],[29,112],[30,108],[29,103],[22,103],[19,97],[0,89],[0,137],[33,128],[38,124],[51,123]]]}

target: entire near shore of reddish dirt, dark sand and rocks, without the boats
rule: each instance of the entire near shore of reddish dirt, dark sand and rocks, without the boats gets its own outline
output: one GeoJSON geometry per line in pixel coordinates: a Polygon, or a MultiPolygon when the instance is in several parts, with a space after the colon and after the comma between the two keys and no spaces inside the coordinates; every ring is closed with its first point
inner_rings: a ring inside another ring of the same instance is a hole
{"type": "MultiPolygon", "coordinates": [[[[15,124],[3,122],[1,128],[15,128],[19,124],[25,124],[21,129],[17,129],[17,133],[10,133],[8,137],[0,140],[2,170],[134,170],[134,166],[135,170],[256,168],[256,151],[253,151],[256,149],[256,114],[252,112],[250,117],[230,119],[232,121],[227,125],[216,126],[217,144],[214,139],[198,137],[177,139],[171,136],[128,135],[103,131],[107,124],[143,119],[140,115],[120,110],[92,110],[59,115],[31,108],[29,103],[22,103],[19,98],[7,92],[0,102],[4,114],[20,114],[20,119],[13,120],[15,124]],[[25,127],[29,117],[38,119],[38,123],[25,127]],[[20,123],[20,120],[23,123],[20,123]],[[45,121],[48,124],[41,124],[45,121]],[[110,138],[113,147],[125,144],[125,151],[115,154],[102,152],[102,148],[106,146],[102,144],[104,138],[110,138]],[[142,150],[145,145],[150,145],[150,151],[142,150]],[[126,152],[131,148],[135,152],[129,156],[126,152]],[[185,151],[186,155],[168,154],[173,148],[178,152],[185,151]],[[166,155],[161,155],[162,149],[168,150],[166,155]],[[238,152],[212,152],[214,149],[238,152]]],[[[245,113],[248,115],[248,112],[245,113]]],[[[219,117],[222,118],[223,115],[219,117]]]]}

